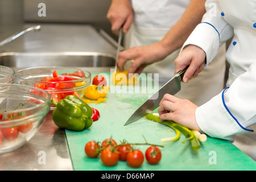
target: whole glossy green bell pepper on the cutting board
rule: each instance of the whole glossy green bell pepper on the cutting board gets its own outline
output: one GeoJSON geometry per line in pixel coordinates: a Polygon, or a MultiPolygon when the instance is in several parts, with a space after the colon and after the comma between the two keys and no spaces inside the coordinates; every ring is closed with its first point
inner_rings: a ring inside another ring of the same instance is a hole
{"type": "Polygon", "coordinates": [[[58,103],[53,100],[51,103],[56,106],[53,122],[61,129],[81,131],[92,126],[92,108],[80,98],[69,95],[58,103]]]}

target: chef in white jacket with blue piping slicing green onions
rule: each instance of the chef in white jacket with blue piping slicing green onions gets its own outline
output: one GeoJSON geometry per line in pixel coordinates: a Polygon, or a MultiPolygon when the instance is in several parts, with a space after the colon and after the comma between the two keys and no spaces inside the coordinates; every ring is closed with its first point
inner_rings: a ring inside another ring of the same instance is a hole
{"type": "Polygon", "coordinates": [[[255,1],[209,0],[205,7],[207,13],[202,22],[175,60],[175,72],[189,65],[184,82],[200,75],[200,71],[204,67],[208,69],[214,61],[218,47],[233,38],[226,52],[230,63],[228,87],[199,107],[166,94],[160,102],[160,118],[203,131],[210,137],[234,141],[238,148],[256,160],[255,1]]]}

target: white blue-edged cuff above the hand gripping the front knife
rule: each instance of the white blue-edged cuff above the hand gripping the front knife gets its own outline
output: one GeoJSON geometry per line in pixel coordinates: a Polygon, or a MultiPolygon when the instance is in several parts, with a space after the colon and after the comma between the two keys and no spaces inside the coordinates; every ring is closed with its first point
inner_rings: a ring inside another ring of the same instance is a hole
{"type": "Polygon", "coordinates": [[[198,24],[191,35],[189,35],[183,47],[181,47],[180,52],[189,44],[193,44],[204,50],[206,55],[205,67],[207,67],[217,56],[220,46],[220,35],[212,24],[202,22],[198,24]]]}

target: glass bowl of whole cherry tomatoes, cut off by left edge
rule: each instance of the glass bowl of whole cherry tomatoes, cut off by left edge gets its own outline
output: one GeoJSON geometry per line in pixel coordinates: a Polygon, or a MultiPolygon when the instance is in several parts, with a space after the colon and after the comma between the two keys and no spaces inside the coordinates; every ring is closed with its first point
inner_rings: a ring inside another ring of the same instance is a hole
{"type": "Polygon", "coordinates": [[[45,90],[0,84],[0,154],[23,146],[39,130],[51,106],[45,90]]]}

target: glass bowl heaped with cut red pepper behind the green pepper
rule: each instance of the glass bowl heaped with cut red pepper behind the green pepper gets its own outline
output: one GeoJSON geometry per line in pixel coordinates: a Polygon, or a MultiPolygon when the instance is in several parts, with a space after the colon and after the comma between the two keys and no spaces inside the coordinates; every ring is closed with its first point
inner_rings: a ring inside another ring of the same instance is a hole
{"type": "MultiPolygon", "coordinates": [[[[15,74],[16,84],[46,90],[55,102],[59,102],[68,95],[84,97],[90,82],[90,72],[71,67],[33,67],[21,69],[15,74]]],[[[51,105],[51,110],[55,108],[51,105]]]]}

